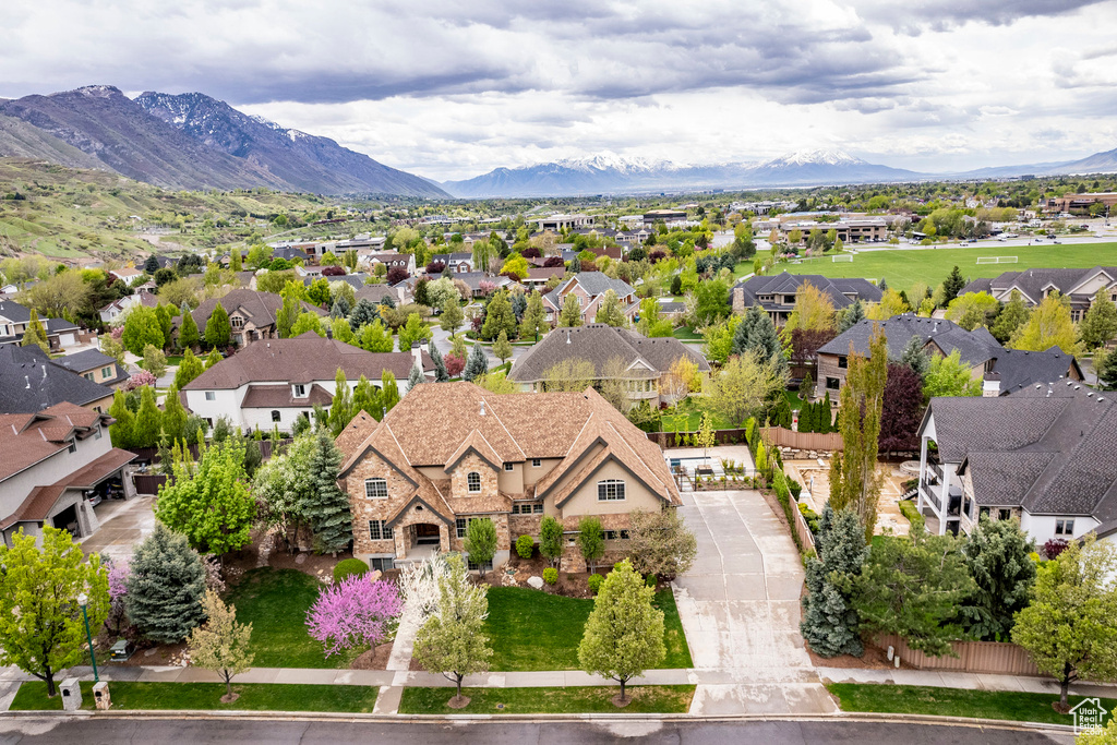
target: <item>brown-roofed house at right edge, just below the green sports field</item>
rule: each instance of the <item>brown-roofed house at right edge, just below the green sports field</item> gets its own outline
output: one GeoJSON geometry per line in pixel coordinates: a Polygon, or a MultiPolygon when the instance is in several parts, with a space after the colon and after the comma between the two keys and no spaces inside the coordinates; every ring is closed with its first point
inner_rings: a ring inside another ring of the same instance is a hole
{"type": "Polygon", "coordinates": [[[1099,289],[1107,290],[1109,299],[1117,302],[1117,267],[1006,271],[992,279],[974,279],[960,295],[989,293],[1008,303],[1012,299],[1012,290],[1018,290],[1028,307],[1035,307],[1051,293],[1059,293],[1070,302],[1070,317],[1078,323],[1090,309],[1099,289]]]}

